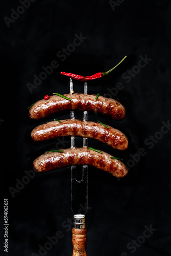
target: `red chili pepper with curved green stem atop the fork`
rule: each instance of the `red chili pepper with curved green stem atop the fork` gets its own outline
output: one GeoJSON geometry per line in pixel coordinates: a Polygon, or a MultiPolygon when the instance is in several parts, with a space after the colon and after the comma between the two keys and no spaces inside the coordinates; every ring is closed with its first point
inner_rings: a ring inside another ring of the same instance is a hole
{"type": "Polygon", "coordinates": [[[76,74],[72,74],[72,73],[66,73],[66,72],[60,72],[60,74],[65,75],[65,76],[69,76],[71,78],[74,78],[76,80],[80,80],[80,81],[87,81],[87,80],[93,80],[96,78],[100,78],[102,76],[108,75],[111,71],[113,71],[125,58],[127,57],[127,55],[112,69],[110,69],[109,71],[106,72],[99,72],[96,73],[92,76],[80,76],[80,75],[76,75],[76,74]]]}

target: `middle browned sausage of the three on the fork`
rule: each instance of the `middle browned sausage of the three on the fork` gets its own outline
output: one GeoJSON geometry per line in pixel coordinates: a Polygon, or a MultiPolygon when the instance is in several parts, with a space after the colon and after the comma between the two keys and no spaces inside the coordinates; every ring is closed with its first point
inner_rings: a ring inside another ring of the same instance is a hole
{"type": "Polygon", "coordinates": [[[101,123],[84,122],[77,119],[66,119],[41,124],[34,128],[31,137],[35,141],[53,139],[61,136],[81,136],[102,141],[117,150],[125,150],[128,146],[126,136],[119,130],[101,123]]]}

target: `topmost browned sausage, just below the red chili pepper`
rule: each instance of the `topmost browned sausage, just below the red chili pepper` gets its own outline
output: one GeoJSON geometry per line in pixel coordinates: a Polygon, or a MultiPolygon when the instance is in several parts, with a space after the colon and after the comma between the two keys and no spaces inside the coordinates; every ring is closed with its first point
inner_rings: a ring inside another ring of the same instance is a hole
{"type": "Polygon", "coordinates": [[[115,120],[121,120],[125,117],[125,108],[117,100],[89,94],[64,94],[72,99],[67,100],[57,95],[50,96],[48,100],[41,99],[34,103],[29,116],[33,119],[41,119],[63,110],[94,111],[110,115],[115,120]]]}

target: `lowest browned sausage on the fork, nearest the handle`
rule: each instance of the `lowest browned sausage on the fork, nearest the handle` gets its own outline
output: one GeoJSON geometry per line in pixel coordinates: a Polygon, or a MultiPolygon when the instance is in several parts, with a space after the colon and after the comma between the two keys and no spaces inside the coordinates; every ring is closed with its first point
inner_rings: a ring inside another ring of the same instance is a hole
{"type": "Polygon", "coordinates": [[[121,161],[111,159],[112,156],[103,151],[98,153],[87,147],[67,148],[62,151],[48,152],[36,158],[33,162],[34,170],[41,173],[68,165],[88,164],[119,178],[127,174],[127,168],[121,161]]]}

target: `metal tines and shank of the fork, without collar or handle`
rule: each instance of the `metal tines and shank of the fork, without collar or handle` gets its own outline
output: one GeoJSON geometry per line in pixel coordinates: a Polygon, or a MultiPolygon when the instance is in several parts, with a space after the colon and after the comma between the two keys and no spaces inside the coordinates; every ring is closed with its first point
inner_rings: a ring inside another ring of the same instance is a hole
{"type": "MultiPolygon", "coordinates": [[[[73,82],[70,78],[70,94],[73,93],[73,82]]],[[[84,93],[87,94],[88,87],[87,82],[84,83],[84,93]]],[[[71,119],[74,118],[74,111],[70,112],[71,119]]],[[[83,119],[84,121],[88,121],[88,112],[83,112],[83,119]]],[[[83,138],[83,147],[88,146],[88,139],[83,138]]],[[[75,147],[75,137],[71,136],[71,147],[75,147]]],[[[79,166],[77,166],[79,168],[79,166]]],[[[73,214],[85,214],[88,208],[88,166],[82,166],[82,179],[77,180],[77,170],[81,171],[80,169],[76,169],[75,165],[71,166],[71,208],[73,214]],[[81,212],[83,210],[83,212],[81,212]]]]}

